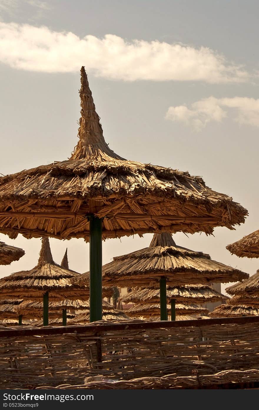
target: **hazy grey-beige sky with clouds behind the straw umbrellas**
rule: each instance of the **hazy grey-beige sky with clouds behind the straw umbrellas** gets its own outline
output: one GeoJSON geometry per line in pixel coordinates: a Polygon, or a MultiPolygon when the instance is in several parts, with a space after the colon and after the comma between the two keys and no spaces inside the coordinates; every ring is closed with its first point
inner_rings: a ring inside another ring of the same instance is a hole
{"type": "MultiPolygon", "coordinates": [[[[83,65],[110,148],[201,175],[249,211],[234,231],[179,232],[176,243],[255,273],[256,259],[225,246],[259,228],[258,11],[257,0],[1,0],[0,173],[70,156],[83,65]]],[[[103,263],[151,239],[109,239],[103,263]]],[[[40,239],[0,240],[25,250],[0,277],[36,265],[40,239]]],[[[57,263],[68,247],[70,268],[88,270],[83,239],[50,244],[57,263]]]]}

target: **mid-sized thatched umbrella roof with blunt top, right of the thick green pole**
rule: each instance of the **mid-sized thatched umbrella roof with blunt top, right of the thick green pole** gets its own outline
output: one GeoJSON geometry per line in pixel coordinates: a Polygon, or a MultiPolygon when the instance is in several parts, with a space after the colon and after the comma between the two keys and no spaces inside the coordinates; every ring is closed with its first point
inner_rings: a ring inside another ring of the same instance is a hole
{"type": "MultiPolygon", "coordinates": [[[[233,282],[249,277],[248,273],[211,260],[203,252],[177,246],[169,232],[155,234],[148,248],[114,257],[102,271],[105,285],[121,287],[149,287],[157,284],[161,276],[167,278],[168,285],[233,282]]],[[[79,280],[84,277],[88,273],[79,280]]]]}

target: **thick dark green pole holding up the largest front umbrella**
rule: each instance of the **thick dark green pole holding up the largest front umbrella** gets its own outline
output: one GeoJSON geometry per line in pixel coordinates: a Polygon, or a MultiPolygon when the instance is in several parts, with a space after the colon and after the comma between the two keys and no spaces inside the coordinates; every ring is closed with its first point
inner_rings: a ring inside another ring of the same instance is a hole
{"type": "Polygon", "coordinates": [[[89,217],[90,222],[90,322],[102,319],[102,220],[89,217]]]}

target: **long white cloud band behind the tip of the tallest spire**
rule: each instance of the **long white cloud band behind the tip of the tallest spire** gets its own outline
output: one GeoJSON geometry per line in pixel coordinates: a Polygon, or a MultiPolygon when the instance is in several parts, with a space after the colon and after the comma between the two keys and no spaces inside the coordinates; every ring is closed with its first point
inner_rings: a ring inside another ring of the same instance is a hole
{"type": "Polygon", "coordinates": [[[114,80],[242,82],[248,73],[209,48],[160,41],[126,41],[106,34],[80,39],[47,27],[0,23],[0,62],[11,67],[74,72],[84,65],[98,77],[114,80]]]}

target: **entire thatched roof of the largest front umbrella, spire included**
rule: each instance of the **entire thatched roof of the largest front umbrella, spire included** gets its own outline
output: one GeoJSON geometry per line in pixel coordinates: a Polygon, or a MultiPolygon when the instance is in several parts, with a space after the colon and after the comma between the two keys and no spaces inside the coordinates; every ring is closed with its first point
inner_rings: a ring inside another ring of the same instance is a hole
{"type": "Polygon", "coordinates": [[[84,67],[79,141],[68,160],[0,178],[0,232],[11,238],[89,239],[87,216],[102,218],[103,239],[146,232],[233,229],[248,214],[202,178],[128,161],[106,144],[84,67]]]}

